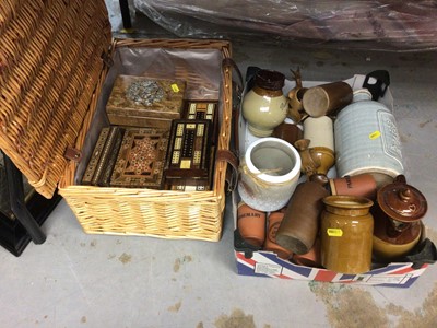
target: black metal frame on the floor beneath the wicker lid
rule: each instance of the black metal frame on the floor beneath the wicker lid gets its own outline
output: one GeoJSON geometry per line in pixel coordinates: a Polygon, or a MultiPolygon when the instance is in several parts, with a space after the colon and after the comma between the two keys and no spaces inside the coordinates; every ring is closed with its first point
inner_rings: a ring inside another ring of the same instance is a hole
{"type": "Polygon", "coordinates": [[[5,154],[3,159],[14,218],[8,218],[0,212],[0,245],[13,255],[20,256],[31,241],[35,244],[43,244],[46,241],[40,226],[61,197],[55,192],[51,199],[47,199],[38,192],[33,192],[25,201],[22,173],[5,154]]]}

